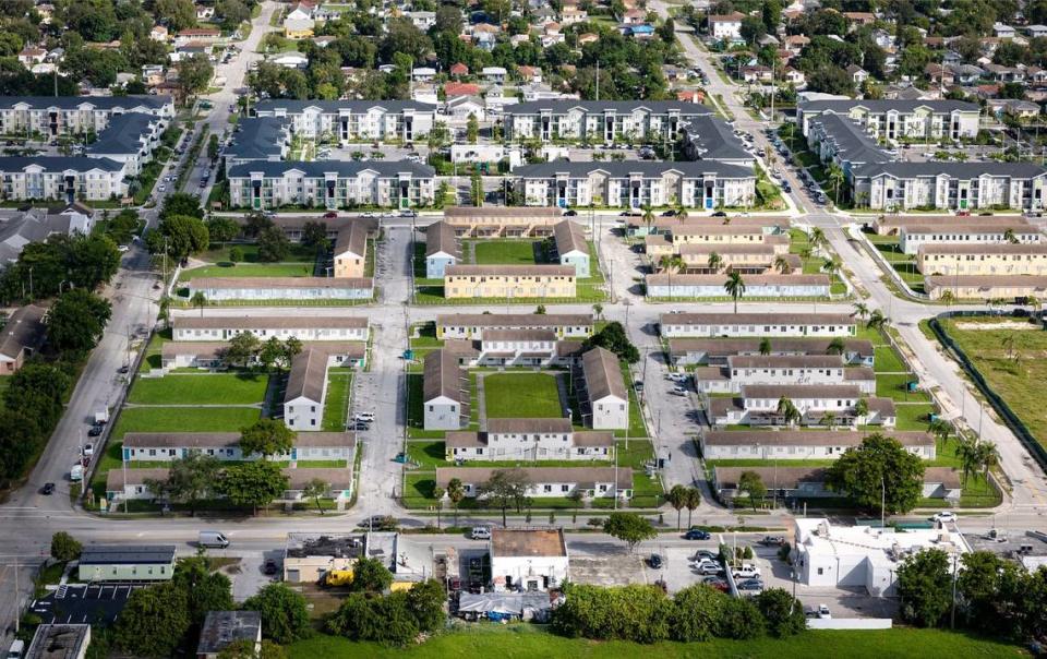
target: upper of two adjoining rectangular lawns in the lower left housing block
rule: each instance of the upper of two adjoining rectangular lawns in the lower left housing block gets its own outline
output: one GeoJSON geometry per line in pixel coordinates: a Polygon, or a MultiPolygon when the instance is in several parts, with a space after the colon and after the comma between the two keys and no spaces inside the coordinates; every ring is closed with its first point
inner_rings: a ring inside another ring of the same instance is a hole
{"type": "Polygon", "coordinates": [[[255,373],[168,374],[140,378],[128,403],[137,405],[254,405],[265,398],[268,376],[255,373]]]}

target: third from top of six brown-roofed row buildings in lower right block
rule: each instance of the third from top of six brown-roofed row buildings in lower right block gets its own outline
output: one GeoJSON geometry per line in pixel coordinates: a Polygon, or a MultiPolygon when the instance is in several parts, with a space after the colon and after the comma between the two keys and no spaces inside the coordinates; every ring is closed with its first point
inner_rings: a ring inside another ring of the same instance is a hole
{"type": "Polygon", "coordinates": [[[695,386],[707,394],[738,394],[747,385],[849,384],[876,393],[870,367],[849,367],[840,355],[733,355],[726,367],[698,367],[695,386]]]}

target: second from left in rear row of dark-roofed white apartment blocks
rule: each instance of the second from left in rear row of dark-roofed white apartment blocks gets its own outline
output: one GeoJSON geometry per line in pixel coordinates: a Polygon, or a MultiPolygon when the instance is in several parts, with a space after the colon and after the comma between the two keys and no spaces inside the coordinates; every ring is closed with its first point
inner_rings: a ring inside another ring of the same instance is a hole
{"type": "Polygon", "coordinates": [[[260,101],[254,113],[290,119],[293,135],[349,144],[424,140],[433,130],[436,110],[434,104],[413,100],[269,98],[260,101]]]}

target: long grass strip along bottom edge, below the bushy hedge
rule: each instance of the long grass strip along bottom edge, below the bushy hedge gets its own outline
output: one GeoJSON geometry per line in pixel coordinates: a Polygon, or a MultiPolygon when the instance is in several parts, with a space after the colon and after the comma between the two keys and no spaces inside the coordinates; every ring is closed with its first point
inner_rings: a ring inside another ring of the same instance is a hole
{"type": "Polygon", "coordinates": [[[564,638],[529,623],[496,625],[478,623],[461,631],[440,634],[407,648],[374,643],[352,643],[317,634],[288,646],[290,659],[444,659],[446,657],[503,657],[504,659],[924,659],[925,657],[1024,657],[1018,646],[965,634],[916,628],[877,631],[806,632],[784,639],[715,639],[708,643],[657,643],[638,645],[621,640],[598,642],[564,638]]]}

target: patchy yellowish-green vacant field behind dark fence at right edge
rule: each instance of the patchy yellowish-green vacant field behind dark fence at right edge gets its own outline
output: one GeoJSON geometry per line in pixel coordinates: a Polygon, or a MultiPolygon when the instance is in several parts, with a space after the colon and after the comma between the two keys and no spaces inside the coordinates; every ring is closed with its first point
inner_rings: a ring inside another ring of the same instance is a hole
{"type": "MultiPolygon", "coordinates": [[[[1047,332],[1001,326],[1016,319],[949,319],[942,330],[1034,438],[1047,445],[1047,332]]],[[[1018,321],[1020,322],[1020,321],[1018,321]]]]}

